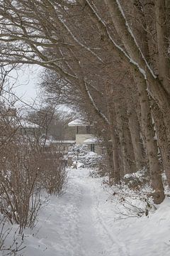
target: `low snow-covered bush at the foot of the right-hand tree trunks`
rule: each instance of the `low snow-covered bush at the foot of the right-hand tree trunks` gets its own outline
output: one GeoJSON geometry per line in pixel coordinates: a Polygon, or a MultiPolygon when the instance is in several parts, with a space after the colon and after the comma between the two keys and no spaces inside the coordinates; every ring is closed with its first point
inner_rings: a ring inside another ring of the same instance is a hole
{"type": "Polygon", "coordinates": [[[116,203],[121,218],[140,218],[156,209],[147,169],[125,174],[122,183],[117,186],[110,187],[108,181],[103,183],[110,193],[108,200],[116,203]]]}

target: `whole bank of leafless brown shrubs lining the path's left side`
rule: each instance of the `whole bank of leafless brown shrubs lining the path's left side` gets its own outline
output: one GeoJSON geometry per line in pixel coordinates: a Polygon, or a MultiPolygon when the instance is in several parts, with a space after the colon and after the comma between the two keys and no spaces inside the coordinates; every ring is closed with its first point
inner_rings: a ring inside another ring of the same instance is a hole
{"type": "Polygon", "coordinates": [[[41,189],[60,193],[67,176],[60,151],[47,154],[40,130],[25,129],[22,120],[11,96],[6,99],[0,92],[0,214],[18,224],[20,234],[35,225],[41,189]]]}

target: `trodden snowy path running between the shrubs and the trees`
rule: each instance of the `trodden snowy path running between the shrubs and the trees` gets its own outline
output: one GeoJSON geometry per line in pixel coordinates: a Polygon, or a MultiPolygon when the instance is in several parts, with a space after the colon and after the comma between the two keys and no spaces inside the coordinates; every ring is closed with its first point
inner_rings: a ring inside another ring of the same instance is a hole
{"type": "Polygon", "coordinates": [[[26,237],[24,255],[128,256],[127,248],[109,231],[99,210],[99,192],[104,193],[101,181],[89,177],[88,170],[69,170],[64,195],[52,197],[41,211],[42,226],[34,229],[33,237],[26,237]]]}

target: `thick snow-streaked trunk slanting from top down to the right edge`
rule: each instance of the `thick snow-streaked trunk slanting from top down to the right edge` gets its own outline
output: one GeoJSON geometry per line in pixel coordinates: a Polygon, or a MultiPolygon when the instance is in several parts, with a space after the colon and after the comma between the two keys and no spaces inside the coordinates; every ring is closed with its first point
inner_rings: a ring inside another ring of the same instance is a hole
{"type": "MultiPolygon", "coordinates": [[[[120,4],[118,4],[118,0],[105,0],[108,5],[108,10],[111,14],[111,18],[113,20],[113,24],[115,26],[120,39],[125,46],[125,49],[128,52],[130,58],[132,58],[131,63],[128,63],[124,58],[122,58],[127,65],[131,65],[131,70],[133,75],[140,76],[140,72],[145,73],[143,77],[140,79],[143,80],[142,85],[148,87],[148,91],[153,99],[157,100],[157,104],[162,109],[162,111],[169,111],[170,107],[170,97],[167,95],[166,90],[162,86],[162,82],[154,75],[153,71],[149,67],[145,56],[140,50],[140,47],[137,45],[137,41],[128,25],[125,15],[123,14],[123,9],[120,8],[120,4]],[[133,61],[137,63],[137,67],[132,65],[133,61]],[[140,70],[142,68],[142,70],[140,70]]],[[[119,53],[121,55],[121,53],[119,53]]],[[[169,119],[170,120],[170,119],[169,119]]]]}

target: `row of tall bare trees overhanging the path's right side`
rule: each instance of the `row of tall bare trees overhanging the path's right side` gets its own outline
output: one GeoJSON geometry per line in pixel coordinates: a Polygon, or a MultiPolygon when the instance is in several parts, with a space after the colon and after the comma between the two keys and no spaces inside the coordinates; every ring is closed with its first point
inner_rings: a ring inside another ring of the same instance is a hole
{"type": "Polygon", "coordinates": [[[50,99],[96,124],[111,181],[147,167],[161,203],[163,171],[170,183],[169,0],[0,2],[1,63],[48,70],[50,99]]]}

